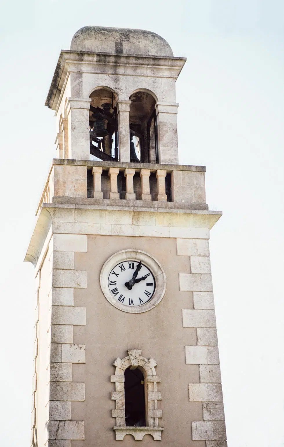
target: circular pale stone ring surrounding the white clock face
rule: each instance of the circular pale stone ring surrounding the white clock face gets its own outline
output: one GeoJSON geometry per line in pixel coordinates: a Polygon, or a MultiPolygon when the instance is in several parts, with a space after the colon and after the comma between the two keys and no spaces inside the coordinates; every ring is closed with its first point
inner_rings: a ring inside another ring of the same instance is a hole
{"type": "Polygon", "coordinates": [[[161,264],[150,254],[142,251],[142,250],[133,250],[126,249],[121,250],[117,253],[114,253],[110,256],[104,265],[102,266],[101,274],[100,274],[100,284],[103,294],[106,299],[112,304],[115,308],[122,310],[123,312],[129,313],[142,313],[147,312],[150,309],[153,309],[160,303],[161,299],[165,295],[165,287],[166,287],[166,278],[165,272],[161,266],[161,264]],[[108,278],[111,269],[114,268],[117,264],[124,261],[142,261],[142,264],[148,267],[153,273],[153,276],[156,281],[156,289],[152,298],[147,301],[147,303],[141,304],[140,306],[126,306],[121,304],[117,299],[113,297],[108,287],[108,278]]]}

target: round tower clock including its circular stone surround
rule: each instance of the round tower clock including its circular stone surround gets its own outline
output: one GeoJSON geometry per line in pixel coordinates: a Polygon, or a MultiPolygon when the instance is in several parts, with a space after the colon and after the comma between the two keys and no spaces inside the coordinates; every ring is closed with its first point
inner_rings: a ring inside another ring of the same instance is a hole
{"type": "Polygon", "coordinates": [[[165,272],[153,256],[141,250],[122,250],[102,266],[100,284],[106,299],[124,312],[146,312],[165,294],[165,272]]]}

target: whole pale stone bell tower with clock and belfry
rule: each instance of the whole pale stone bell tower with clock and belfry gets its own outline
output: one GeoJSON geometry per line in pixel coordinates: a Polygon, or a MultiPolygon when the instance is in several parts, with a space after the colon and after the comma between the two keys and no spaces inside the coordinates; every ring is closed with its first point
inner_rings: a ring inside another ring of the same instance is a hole
{"type": "Polygon", "coordinates": [[[35,267],[33,447],[225,447],[204,166],[178,164],[186,59],[144,30],[84,27],[46,105],[58,158],[35,267]]]}

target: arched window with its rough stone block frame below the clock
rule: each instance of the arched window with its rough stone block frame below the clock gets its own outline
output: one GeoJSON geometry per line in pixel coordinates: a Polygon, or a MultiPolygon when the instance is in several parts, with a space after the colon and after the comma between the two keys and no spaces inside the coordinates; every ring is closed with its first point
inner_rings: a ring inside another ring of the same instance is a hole
{"type": "Polygon", "coordinates": [[[161,392],[157,384],[161,378],[156,375],[156,361],[141,356],[141,350],[128,350],[128,356],[114,362],[115,391],[111,399],[115,401],[112,417],[116,418],[115,439],[122,440],[126,434],[142,440],[151,434],[155,441],[161,441],[163,427],[159,426],[162,410],[159,408],[161,392]]]}

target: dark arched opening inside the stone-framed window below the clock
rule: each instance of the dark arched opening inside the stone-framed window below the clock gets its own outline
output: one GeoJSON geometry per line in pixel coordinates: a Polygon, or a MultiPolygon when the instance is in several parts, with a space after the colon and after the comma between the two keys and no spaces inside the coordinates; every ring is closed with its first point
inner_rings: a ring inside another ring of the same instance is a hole
{"type": "Polygon", "coordinates": [[[124,372],[125,425],[127,427],[145,427],[145,391],[144,376],[136,369],[127,368],[124,372]]]}

